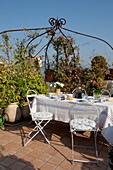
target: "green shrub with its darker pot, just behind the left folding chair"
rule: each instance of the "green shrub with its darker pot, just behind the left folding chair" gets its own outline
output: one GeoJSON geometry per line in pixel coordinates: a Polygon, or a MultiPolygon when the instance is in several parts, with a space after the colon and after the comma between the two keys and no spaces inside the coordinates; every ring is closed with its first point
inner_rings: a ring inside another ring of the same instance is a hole
{"type": "Polygon", "coordinates": [[[48,93],[48,88],[41,75],[40,69],[35,66],[35,60],[29,59],[18,63],[17,91],[19,91],[19,106],[24,118],[29,118],[29,108],[26,93],[32,89],[37,94],[48,93]]]}

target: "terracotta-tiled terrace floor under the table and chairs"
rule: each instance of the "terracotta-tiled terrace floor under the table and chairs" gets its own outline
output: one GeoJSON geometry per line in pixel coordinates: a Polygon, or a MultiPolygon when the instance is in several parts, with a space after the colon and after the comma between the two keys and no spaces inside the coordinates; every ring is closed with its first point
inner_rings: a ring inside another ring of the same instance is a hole
{"type": "MultiPolygon", "coordinates": [[[[24,134],[34,126],[30,121],[6,125],[0,129],[0,170],[110,170],[108,146],[102,136],[98,136],[99,165],[89,163],[71,163],[71,136],[69,125],[51,121],[45,128],[51,145],[44,141],[41,134],[29,144],[23,146],[24,134]]],[[[77,143],[92,145],[93,137],[88,132],[77,133],[77,143]]],[[[77,159],[92,158],[94,150],[79,148],[75,152],[77,159]]]]}

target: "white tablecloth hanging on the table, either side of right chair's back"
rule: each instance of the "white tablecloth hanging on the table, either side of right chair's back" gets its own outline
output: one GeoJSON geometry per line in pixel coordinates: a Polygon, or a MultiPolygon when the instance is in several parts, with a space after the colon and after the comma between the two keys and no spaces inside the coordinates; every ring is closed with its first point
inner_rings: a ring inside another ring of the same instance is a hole
{"type": "MultiPolygon", "coordinates": [[[[69,122],[69,110],[76,100],[50,99],[46,95],[38,95],[32,104],[33,112],[49,111],[54,114],[54,120],[69,122]]],[[[100,127],[102,135],[113,145],[113,102],[95,103],[99,107],[100,127]]]]}

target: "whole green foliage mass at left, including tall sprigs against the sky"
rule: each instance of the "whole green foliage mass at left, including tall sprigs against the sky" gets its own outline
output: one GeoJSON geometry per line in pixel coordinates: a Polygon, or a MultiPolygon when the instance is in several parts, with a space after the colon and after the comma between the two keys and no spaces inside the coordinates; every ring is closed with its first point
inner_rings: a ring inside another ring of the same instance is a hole
{"type": "Polygon", "coordinates": [[[29,89],[35,90],[37,94],[48,93],[37,59],[31,57],[36,46],[31,45],[26,48],[25,39],[20,42],[17,39],[16,48],[13,51],[14,60],[8,65],[5,62],[4,67],[0,68],[0,108],[2,110],[13,102],[22,106],[29,89]]]}

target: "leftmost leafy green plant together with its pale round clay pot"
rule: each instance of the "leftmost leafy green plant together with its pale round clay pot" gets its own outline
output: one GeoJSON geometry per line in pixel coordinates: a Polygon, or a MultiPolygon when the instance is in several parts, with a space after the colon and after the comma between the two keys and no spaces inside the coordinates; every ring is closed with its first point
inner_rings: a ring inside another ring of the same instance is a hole
{"type": "Polygon", "coordinates": [[[0,90],[0,107],[5,113],[5,120],[11,123],[19,121],[21,111],[18,106],[19,94],[16,90],[14,65],[4,65],[4,69],[1,70],[0,90]]]}

